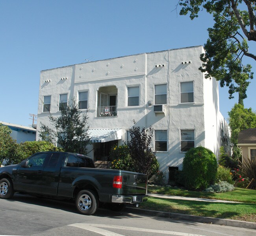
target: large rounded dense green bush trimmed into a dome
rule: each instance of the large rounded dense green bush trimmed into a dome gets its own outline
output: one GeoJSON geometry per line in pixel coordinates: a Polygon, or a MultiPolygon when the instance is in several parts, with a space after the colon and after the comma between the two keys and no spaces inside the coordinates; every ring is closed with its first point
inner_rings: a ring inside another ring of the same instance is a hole
{"type": "Polygon", "coordinates": [[[215,183],[217,160],[211,150],[199,146],[187,151],[183,160],[184,186],[202,190],[215,183]]]}

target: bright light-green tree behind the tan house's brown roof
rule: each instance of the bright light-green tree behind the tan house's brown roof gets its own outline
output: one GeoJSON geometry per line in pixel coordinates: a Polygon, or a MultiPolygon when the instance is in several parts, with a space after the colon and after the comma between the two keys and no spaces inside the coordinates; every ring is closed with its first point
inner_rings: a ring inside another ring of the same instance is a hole
{"type": "Polygon", "coordinates": [[[256,128],[256,113],[252,111],[252,108],[247,109],[241,104],[235,104],[228,115],[231,128],[230,141],[233,145],[237,145],[240,131],[256,128]]]}

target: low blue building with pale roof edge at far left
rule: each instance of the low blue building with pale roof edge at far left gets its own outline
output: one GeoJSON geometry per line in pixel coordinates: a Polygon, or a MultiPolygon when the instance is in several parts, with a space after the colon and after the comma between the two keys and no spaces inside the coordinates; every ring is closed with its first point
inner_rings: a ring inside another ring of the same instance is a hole
{"type": "Polygon", "coordinates": [[[35,141],[36,129],[19,124],[11,124],[0,121],[1,124],[7,125],[11,129],[11,137],[16,139],[17,143],[24,143],[26,141],[35,141]]]}

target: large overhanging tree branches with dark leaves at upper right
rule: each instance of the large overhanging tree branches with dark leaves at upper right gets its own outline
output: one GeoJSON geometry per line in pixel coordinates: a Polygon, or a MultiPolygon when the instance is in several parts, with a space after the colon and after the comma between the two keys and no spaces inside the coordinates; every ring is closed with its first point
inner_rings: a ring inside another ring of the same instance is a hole
{"type": "MultiPolygon", "coordinates": [[[[229,87],[229,98],[239,93],[239,103],[247,97],[249,79],[253,79],[252,66],[243,65],[243,56],[256,60],[256,54],[249,51],[248,41],[256,41],[256,0],[179,0],[180,15],[193,20],[201,9],[213,15],[215,24],[208,28],[209,39],[200,55],[205,78],[215,77],[220,85],[229,87]],[[244,9],[244,10],[242,10],[244,9]]],[[[177,5],[178,6],[178,5],[177,5]]]]}

